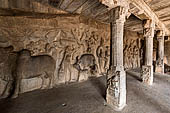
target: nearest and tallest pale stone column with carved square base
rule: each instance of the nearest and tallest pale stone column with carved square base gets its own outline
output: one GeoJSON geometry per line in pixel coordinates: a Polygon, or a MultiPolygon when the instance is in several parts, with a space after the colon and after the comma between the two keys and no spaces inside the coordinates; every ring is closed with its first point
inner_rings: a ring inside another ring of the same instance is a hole
{"type": "Polygon", "coordinates": [[[111,10],[111,67],[107,75],[106,100],[115,110],[126,105],[126,73],[123,66],[123,32],[125,10],[116,7],[111,10]]]}

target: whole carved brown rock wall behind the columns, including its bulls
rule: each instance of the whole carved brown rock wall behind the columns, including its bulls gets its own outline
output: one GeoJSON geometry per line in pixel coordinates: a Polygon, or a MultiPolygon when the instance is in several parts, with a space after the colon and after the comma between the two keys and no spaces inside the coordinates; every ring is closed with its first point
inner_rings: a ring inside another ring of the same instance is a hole
{"type": "MultiPolygon", "coordinates": [[[[109,25],[80,16],[1,16],[0,25],[0,95],[9,96],[16,79],[24,93],[48,89],[51,79],[54,87],[106,75],[109,69],[109,25]]],[[[142,65],[142,43],[141,35],[125,30],[125,69],[142,65]]]]}

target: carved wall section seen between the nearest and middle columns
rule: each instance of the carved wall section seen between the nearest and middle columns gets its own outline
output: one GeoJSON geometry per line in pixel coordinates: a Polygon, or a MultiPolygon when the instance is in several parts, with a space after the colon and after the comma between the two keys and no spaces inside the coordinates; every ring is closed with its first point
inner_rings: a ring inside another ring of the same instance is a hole
{"type": "Polygon", "coordinates": [[[134,69],[143,63],[142,37],[137,32],[125,31],[124,35],[124,67],[125,69],[134,69]]]}

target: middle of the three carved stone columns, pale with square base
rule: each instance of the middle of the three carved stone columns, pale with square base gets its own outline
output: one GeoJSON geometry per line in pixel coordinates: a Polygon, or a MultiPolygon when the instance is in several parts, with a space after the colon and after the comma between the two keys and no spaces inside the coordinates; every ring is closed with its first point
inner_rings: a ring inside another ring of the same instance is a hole
{"type": "Polygon", "coordinates": [[[144,38],[146,42],[145,65],[142,66],[142,81],[148,85],[153,84],[153,37],[155,22],[153,20],[144,21],[144,38]]]}

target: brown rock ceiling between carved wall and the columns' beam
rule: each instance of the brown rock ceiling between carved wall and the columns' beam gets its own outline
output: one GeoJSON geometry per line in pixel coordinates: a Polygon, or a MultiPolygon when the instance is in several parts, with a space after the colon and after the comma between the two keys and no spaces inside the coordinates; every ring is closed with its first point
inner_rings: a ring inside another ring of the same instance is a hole
{"type": "MultiPolygon", "coordinates": [[[[55,18],[80,15],[108,24],[108,11],[108,7],[99,0],[0,0],[1,16],[55,18]]],[[[125,28],[141,32],[142,21],[132,15],[126,21],[125,28]]]]}

